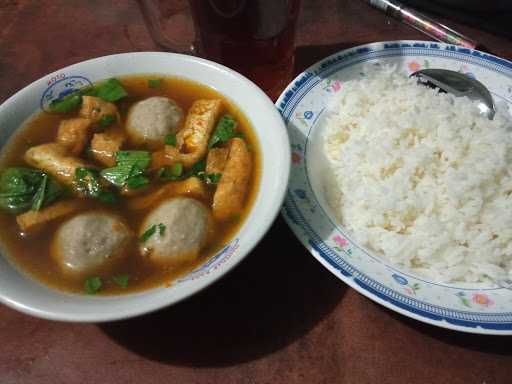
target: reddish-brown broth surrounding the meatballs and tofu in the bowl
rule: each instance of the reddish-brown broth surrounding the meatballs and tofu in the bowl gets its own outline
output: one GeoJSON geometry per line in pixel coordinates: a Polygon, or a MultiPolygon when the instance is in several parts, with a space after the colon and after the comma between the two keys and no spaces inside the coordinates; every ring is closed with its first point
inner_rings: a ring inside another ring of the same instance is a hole
{"type": "MultiPolygon", "coordinates": [[[[132,229],[135,236],[133,244],[127,247],[129,254],[114,270],[99,271],[94,276],[100,276],[103,281],[101,294],[126,294],[142,291],[157,286],[169,286],[174,280],[185,275],[189,271],[203,264],[212,257],[236,234],[241,224],[250,212],[251,206],[257,195],[261,161],[260,150],[256,136],[251,125],[243,113],[226,97],[215,90],[204,85],[174,77],[162,77],[161,75],[138,75],[119,78],[127,90],[129,96],[126,100],[117,103],[122,121],[125,120],[129,106],[149,96],[168,96],[174,99],[184,111],[187,111],[192,103],[201,98],[219,98],[223,100],[224,110],[233,115],[239,123],[239,128],[244,133],[245,139],[253,154],[253,170],[249,185],[246,204],[240,218],[230,223],[217,223],[215,239],[205,245],[201,251],[201,257],[193,262],[179,267],[162,267],[144,260],[139,253],[139,244],[136,234],[145,215],[151,210],[131,211],[126,207],[125,201],[117,205],[105,205],[92,199],[83,199],[84,210],[101,210],[112,212],[121,216],[125,223],[132,229]],[[162,79],[157,88],[148,87],[148,79],[162,79]],[[129,285],[121,288],[111,281],[114,275],[129,275],[129,285]]],[[[69,118],[74,114],[56,115],[41,112],[31,118],[18,132],[11,137],[10,141],[2,150],[0,158],[0,169],[9,166],[19,166],[26,163],[23,161],[25,151],[34,145],[51,142],[55,140],[59,121],[69,118]]],[[[123,149],[134,149],[125,145],[123,149]]],[[[139,147],[140,148],[140,147],[139,147]]],[[[161,186],[160,184],[159,186],[161,186]]],[[[147,193],[151,193],[150,189],[147,193]]],[[[210,205],[211,201],[205,201],[210,205]]],[[[83,212],[82,210],[81,212],[83,212]]],[[[8,212],[0,211],[0,243],[9,259],[23,272],[34,277],[45,285],[67,292],[84,292],[84,281],[88,276],[76,277],[63,273],[50,256],[50,244],[54,232],[59,225],[68,220],[72,215],[49,222],[44,228],[22,235],[16,223],[16,217],[8,212]]]]}

